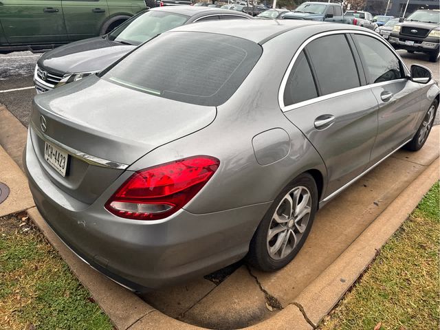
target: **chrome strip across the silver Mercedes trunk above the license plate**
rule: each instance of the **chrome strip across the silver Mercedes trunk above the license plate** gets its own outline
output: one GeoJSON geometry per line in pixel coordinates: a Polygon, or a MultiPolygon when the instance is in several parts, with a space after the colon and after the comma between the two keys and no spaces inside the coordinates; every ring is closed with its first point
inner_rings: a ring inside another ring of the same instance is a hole
{"type": "Polygon", "coordinates": [[[74,148],[71,148],[70,146],[66,146],[63,143],[54,140],[49,135],[46,135],[45,133],[39,131],[39,129],[35,126],[35,124],[32,121],[30,122],[30,128],[32,129],[32,131],[34,131],[36,133],[36,135],[38,135],[41,138],[41,140],[43,140],[45,142],[50,142],[51,144],[54,144],[57,148],[60,148],[65,153],[68,153],[72,157],[78,158],[88,164],[91,164],[94,166],[106,167],[106,168],[115,168],[118,170],[125,170],[126,168],[129,167],[129,165],[127,165],[127,164],[112,162],[111,160],[102,159],[102,158],[96,157],[94,155],[89,155],[88,153],[83,153],[83,152],[78,151],[74,148]]]}

